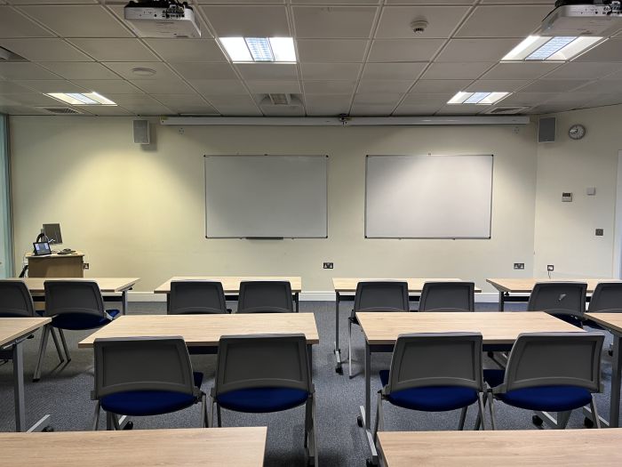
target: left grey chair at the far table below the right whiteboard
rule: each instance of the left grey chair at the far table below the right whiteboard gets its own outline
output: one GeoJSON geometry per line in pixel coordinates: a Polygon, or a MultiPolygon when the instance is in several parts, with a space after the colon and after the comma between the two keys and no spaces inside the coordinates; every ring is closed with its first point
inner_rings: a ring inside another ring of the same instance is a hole
{"type": "Polygon", "coordinates": [[[347,318],[347,371],[350,378],[352,377],[352,325],[359,326],[356,313],[408,310],[408,282],[369,281],[356,284],[355,308],[347,318]]]}

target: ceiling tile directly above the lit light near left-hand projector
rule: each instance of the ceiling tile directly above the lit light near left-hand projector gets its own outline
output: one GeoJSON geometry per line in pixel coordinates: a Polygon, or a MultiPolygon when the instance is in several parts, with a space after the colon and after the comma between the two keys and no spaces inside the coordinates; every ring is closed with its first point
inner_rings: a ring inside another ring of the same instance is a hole
{"type": "Polygon", "coordinates": [[[291,37],[284,6],[214,5],[201,9],[219,37],[291,37]]]}

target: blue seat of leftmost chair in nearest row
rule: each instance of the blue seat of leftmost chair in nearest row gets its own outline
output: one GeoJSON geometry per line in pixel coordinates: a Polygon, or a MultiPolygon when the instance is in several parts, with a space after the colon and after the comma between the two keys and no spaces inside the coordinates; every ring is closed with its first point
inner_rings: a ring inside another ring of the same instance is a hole
{"type": "MultiPolygon", "coordinates": [[[[195,386],[201,387],[203,373],[194,372],[195,386]]],[[[197,402],[192,394],[173,391],[124,391],[101,398],[101,408],[117,415],[162,415],[190,407],[197,402]]]]}

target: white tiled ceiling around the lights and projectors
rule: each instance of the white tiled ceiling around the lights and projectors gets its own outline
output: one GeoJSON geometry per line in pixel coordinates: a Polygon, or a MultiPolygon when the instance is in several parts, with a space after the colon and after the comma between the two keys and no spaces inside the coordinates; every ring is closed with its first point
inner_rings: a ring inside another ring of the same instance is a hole
{"type": "Polygon", "coordinates": [[[47,114],[43,93],[101,93],[90,115],[451,115],[458,91],[547,113],[622,102],[622,36],[569,63],[499,63],[554,0],[193,0],[201,39],[138,38],[113,0],[0,0],[0,112],[47,114]],[[415,36],[411,21],[426,19],[415,36]],[[297,64],[232,64],[218,36],[293,36],[297,64]],[[132,68],[152,68],[136,76],[132,68]],[[291,93],[289,107],[267,93],[291,93]]]}

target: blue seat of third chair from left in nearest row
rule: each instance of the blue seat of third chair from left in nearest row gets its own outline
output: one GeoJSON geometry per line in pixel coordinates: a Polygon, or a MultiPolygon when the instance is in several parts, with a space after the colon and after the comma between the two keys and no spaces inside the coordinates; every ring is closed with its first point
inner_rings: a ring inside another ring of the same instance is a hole
{"type": "MultiPolygon", "coordinates": [[[[383,386],[387,385],[388,379],[388,370],[380,371],[383,386]]],[[[427,386],[395,391],[387,399],[397,407],[425,412],[445,412],[470,406],[477,401],[477,391],[459,386],[427,386]]]]}

